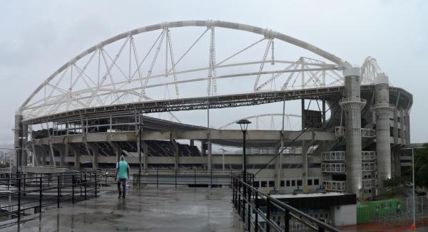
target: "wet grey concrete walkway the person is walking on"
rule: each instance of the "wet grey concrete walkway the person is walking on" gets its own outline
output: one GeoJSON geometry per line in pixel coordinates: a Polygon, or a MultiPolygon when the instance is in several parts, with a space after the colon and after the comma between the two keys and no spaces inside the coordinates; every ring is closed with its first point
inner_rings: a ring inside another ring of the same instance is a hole
{"type": "Polygon", "coordinates": [[[118,199],[113,187],[97,199],[23,218],[1,231],[243,231],[231,189],[144,187],[118,199]]]}

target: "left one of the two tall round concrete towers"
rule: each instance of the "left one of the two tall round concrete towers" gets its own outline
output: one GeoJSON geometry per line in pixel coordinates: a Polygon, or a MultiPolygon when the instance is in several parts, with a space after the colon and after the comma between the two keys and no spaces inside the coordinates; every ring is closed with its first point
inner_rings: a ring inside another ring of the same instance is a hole
{"type": "Polygon", "coordinates": [[[362,196],[361,162],[361,110],[360,68],[347,68],[345,76],[345,99],[340,105],[345,110],[346,137],[346,186],[347,192],[362,196]]]}

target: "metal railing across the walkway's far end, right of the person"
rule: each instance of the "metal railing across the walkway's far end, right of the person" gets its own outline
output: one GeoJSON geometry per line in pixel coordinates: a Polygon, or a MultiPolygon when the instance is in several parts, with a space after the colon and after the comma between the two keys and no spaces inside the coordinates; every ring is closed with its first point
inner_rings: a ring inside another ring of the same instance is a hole
{"type": "Polygon", "coordinates": [[[187,186],[230,186],[231,176],[240,171],[223,171],[208,169],[148,169],[141,176],[133,174],[134,185],[187,185],[187,186]]]}

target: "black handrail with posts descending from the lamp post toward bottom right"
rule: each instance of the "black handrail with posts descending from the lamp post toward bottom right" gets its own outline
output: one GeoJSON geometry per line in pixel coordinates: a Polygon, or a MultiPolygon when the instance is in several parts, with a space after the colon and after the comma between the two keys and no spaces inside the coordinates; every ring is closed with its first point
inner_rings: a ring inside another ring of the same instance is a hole
{"type": "MultiPolygon", "coordinates": [[[[285,204],[278,199],[272,198],[267,194],[255,189],[248,183],[245,183],[241,176],[232,176],[233,188],[233,205],[236,211],[243,219],[243,223],[248,231],[290,231],[291,224],[295,221],[302,223],[307,230],[312,231],[335,231],[340,230],[324,223],[317,218],[307,215],[306,213],[285,204]],[[260,203],[263,202],[263,205],[260,203]],[[266,213],[261,208],[266,209],[266,213]],[[270,218],[271,210],[282,211],[285,213],[285,223],[280,226],[270,218]],[[252,214],[254,213],[252,220],[252,214]],[[259,223],[259,217],[263,218],[264,224],[259,223]]],[[[250,182],[252,183],[252,182],[250,182]]]]}

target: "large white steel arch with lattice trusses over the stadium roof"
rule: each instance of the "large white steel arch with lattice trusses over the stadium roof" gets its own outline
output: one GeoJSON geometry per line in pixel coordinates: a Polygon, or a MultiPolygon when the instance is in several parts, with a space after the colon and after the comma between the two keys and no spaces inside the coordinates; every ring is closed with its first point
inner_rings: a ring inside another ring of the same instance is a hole
{"type": "Polygon", "coordinates": [[[260,27],[225,21],[158,23],[121,33],[83,51],[44,80],[19,110],[24,119],[29,119],[68,110],[159,100],[162,97],[172,99],[218,95],[218,90],[222,90],[218,81],[233,78],[242,78],[240,83],[251,83],[253,86],[248,90],[237,90],[236,86],[231,86],[228,89],[233,89],[233,93],[343,85],[342,74],[338,71],[349,67],[350,64],[346,61],[310,43],[260,27]],[[185,33],[172,33],[173,28],[203,30],[192,35],[193,43],[190,46],[176,46],[174,36],[180,37],[185,33]],[[249,32],[258,38],[254,43],[233,52],[225,49],[229,52],[228,56],[220,60],[218,46],[225,43],[215,28],[249,32]],[[146,34],[150,34],[154,42],[138,41],[141,39],[138,36],[146,34]],[[208,39],[208,58],[205,64],[195,65],[200,63],[201,57],[193,56],[195,62],[180,67],[185,65],[183,60],[190,56],[195,47],[200,46],[204,37],[208,39]],[[303,48],[326,61],[304,56],[295,60],[277,58],[283,54],[277,52],[278,42],[303,48]],[[258,53],[247,54],[260,46],[260,56],[256,56],[262,60],[254,60],[254,54],[258,53]],[[187,49],[177,56],[177,48],[184,47],[187,49]],[[244,59],[233,62],[238,57],[244,59]],[[165,62],[160,61],[161,59],[165,62]],[[248,81],[248,77],[255,79],[254,82],[248,81]],[[194,83],[207,84],[203,95],[194,93],[201,89],[200,86],[187,87],[194,83]],[[160,90],[163,91],[161,97],[158,94],[160,90]]]}

